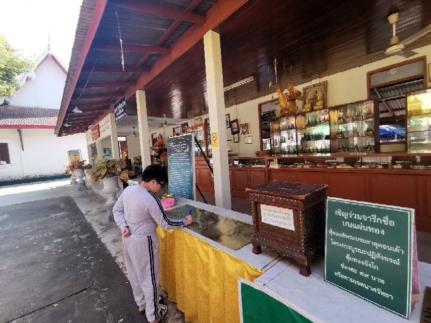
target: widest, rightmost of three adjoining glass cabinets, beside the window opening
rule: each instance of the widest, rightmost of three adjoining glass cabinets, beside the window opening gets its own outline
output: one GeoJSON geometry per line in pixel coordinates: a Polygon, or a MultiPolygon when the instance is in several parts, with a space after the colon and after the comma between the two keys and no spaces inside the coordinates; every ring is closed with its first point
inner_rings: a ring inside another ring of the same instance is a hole
{"type": "Polygon", "coordinates": [[[379,151],[378,100],[366,100],[329,108],[333,154],[372,154],[379,151]]]}

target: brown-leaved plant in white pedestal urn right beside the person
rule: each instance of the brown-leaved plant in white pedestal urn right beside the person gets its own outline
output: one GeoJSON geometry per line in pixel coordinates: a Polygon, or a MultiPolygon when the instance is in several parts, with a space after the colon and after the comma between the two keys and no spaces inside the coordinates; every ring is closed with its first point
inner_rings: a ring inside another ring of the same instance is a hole
{"type": "Polygon", "coordinates": [[[129,175],[134,175],[132,171],[128,171],[126,168],[126,161],[123,159],[105,159],[99,160],[91,167],[87,174],[90,175],[92,181],[102,180],[103,190],[108,199],[105,206],[108,208],[109,221],[114,221],[112,217],[112,206],[116,202],[115,194],[120,190],[118,184],[121,180],[127,181],[129,175]]]}

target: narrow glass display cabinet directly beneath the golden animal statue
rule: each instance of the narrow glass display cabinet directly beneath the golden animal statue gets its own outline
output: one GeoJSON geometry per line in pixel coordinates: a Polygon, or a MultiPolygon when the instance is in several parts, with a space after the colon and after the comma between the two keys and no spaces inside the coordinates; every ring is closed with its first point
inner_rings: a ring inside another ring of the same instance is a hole
{"type": "Polygon", "coordinates": [[[295,116],[269,121],[272,155],[297,154],[295,116]]]}

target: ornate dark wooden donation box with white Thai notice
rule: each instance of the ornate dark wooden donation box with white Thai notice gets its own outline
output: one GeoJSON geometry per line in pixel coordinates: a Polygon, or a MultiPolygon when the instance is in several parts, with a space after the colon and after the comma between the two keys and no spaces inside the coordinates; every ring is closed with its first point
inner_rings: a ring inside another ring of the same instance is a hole
{"type": "Polygon", "coordinates": [[[253,253],[261,247],[291,257],[300,274],[323,250],[327,185],[272,181],[246,188],[253,207],[253,253]]]}

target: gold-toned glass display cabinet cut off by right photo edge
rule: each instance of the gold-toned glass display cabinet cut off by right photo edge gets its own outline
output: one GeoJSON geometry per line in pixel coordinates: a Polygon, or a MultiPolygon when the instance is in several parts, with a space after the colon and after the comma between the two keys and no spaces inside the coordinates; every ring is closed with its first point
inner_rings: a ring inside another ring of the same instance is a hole
{"type": "Polygon", "coordinates": [[[431,88],[407,93],[407,150],[431,152],[431,88]]]}

